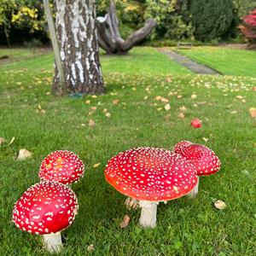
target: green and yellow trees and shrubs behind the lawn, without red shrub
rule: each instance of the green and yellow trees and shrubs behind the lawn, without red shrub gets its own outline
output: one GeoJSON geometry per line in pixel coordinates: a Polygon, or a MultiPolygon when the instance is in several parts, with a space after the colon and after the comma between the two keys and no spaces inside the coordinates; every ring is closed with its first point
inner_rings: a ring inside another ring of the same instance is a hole
{"type": "MultiPolygon", "coordinates": [[[[255,0],[115,0],[115,3],[123,38],[142,27],[149,17],[157,20],[158,26],[147,38],[150,44],[159,40],[242,40],[238,26],[256,8],[255,0]]],[[[98,0],[96,4],[97,15],[105,15],[109,0],[98,0]]],[[[12,44],[48,41],[41,1],[0,2],[0,42],[7,44],[7,38],[12,44]]]]}

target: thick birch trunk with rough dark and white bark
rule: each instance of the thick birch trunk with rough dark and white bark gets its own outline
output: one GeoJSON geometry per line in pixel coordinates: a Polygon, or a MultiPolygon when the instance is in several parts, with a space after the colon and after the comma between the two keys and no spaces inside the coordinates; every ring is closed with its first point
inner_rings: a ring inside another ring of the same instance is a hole
{"type": "MultiPolygon", "coordinates": [[[[67,88],[73,93],[102,93],[104,90],[93,0],[56,0],[55,26],[67,88]]],[[[53,90],[60,76],[55,68],[53,90]]]]}

